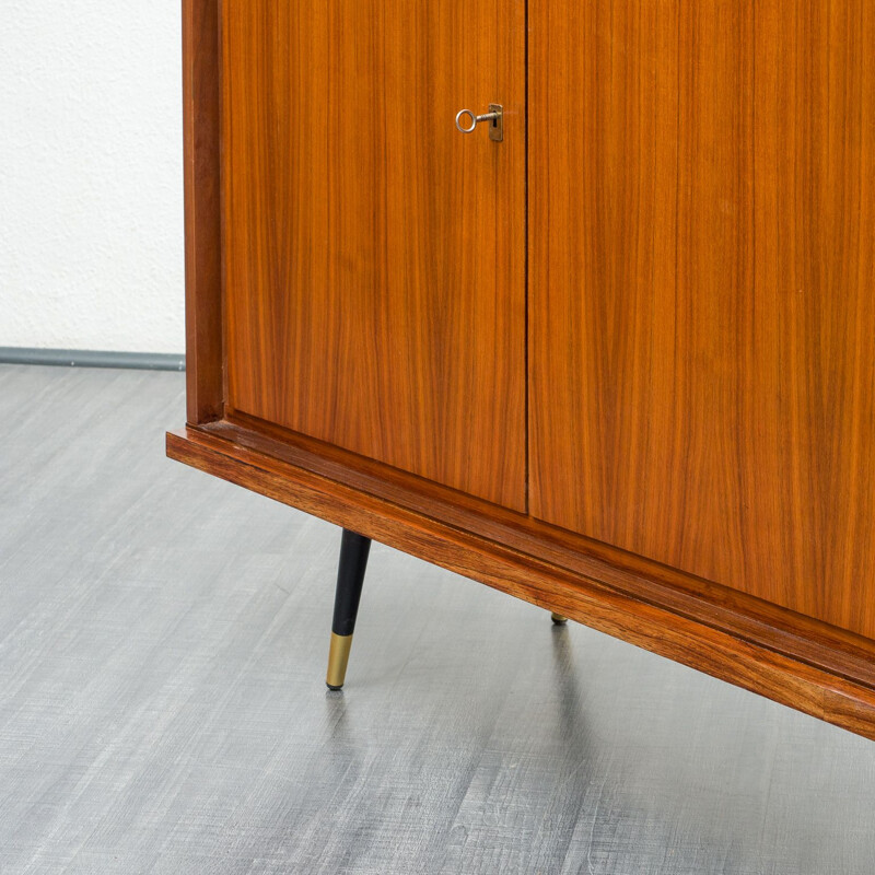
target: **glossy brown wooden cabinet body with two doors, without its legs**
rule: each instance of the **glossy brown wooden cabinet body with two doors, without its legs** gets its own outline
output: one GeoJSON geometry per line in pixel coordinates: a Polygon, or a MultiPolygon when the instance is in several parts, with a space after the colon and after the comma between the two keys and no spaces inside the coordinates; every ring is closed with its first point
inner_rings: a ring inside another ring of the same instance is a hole
{"type": "Polygon", "coordinates": [[[875,7],[184,11],[170,455],[875,737],[875,7]]]}

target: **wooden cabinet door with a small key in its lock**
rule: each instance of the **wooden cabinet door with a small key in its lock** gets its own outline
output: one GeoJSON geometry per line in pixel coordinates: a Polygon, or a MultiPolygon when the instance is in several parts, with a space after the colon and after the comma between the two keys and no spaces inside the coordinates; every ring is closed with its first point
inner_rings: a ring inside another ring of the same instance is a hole
{"type": "Polygon", "coordinates": [[[525,506],[524,0],[225,0],[228,401],[525,506]],[[504,109],[504,139],[456,129],[504,109]]]}

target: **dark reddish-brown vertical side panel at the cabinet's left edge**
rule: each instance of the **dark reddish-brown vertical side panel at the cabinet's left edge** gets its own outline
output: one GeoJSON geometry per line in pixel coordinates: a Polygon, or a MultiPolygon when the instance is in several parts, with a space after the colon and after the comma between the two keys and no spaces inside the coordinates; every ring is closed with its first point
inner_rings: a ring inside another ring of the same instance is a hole
{"type": "Polygon", "coordinates": [[[183,0],[186,397],[191,423],[223,412],[219,0],[183,0]]]}

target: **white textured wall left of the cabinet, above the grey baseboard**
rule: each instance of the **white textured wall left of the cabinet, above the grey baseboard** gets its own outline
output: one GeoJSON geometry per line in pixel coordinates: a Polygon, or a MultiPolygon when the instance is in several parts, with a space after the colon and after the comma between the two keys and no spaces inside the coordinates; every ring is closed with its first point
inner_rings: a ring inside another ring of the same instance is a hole
{"type": "Polygon", "coordinates": [[[0,2],[0,346],[183,351],[179,7],[0,2]]]}

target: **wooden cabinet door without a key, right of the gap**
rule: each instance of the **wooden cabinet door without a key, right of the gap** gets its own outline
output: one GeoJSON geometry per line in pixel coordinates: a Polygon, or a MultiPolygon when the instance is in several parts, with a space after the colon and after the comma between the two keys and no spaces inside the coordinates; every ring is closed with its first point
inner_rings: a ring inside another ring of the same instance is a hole
{"type": "Polygon", "coordinates": [[[875,4],[532,9],[533,514],[875,637],[875,4]]]}

